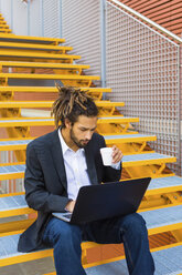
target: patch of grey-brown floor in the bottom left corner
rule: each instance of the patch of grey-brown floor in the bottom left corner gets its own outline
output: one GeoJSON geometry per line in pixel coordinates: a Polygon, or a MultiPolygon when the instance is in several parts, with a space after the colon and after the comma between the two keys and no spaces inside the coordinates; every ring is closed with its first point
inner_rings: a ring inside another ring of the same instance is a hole
{"type": "Polygon", "coordinates": [[[0,267],[0,275],[43,275],[54,272],[52,257],[0,267]]]}

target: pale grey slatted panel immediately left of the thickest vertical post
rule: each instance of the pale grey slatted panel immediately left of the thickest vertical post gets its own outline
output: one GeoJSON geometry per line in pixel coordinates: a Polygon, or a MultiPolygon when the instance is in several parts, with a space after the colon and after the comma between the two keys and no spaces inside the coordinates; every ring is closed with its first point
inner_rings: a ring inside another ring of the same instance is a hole
{"type": "Polygon", "coordinates": [[[89,73],[100,75],[99,0],[62,0],[63,37],[81,54],[77,63],[90,65],[89,73]]]}

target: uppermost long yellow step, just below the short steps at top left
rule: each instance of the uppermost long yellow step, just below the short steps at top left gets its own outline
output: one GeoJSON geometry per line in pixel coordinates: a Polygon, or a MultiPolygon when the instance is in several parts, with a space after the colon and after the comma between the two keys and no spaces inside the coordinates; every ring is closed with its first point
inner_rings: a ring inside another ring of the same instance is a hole
{"type": "Polygon", "coordinates": [[[29,35],[15,35],[13,33],[0,33],[0,41],[40,43],[40,44],[60,44],[65,42],[62,38],[41,38],[29,35]]]}

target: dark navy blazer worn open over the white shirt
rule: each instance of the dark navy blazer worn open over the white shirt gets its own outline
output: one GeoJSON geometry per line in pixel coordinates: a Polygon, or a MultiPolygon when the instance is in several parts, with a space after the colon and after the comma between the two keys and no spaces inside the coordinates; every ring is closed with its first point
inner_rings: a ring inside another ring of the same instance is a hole
{"type": "MultiPolygon", "coordinates": [[[[106,146],[101,135],[94,133],[85,147],[87,171],[92,184],[120,179],[121,169],[104,166],[99,149],[106,146]]],[[[20,236],[18,249],[29,252],[44,248],[42,234],[52,212],[64,212],[67,181],[57,130],[32,141],[26,149],[24,177],[25,200],[38,211],[38,220],[20,236]]],[[[46,246],[47,247],[47,246],[46,246]]]]}

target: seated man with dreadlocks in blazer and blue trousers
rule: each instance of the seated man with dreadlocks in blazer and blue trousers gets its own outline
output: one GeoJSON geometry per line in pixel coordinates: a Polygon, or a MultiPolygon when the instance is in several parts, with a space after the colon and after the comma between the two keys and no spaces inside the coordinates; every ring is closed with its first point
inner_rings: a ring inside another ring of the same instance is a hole
{"type": "Polygon", "coordinates": [[[53,247],[57,275],[85,275],[82,241],[124,243],[129,274],[152,275],[147,228],[139,214],[84,226],[52,215],[73,212],[81,186],[118,181],[122,159],[120,150],[113,146],[113,164],[104,166],[99,150],[106,143],[95,133],[96,104],[78,89],[57,88],[60,95],[52,110],[56,130],[34,140],[26,149],[25,200],[38,211],[38,220],[21,235],[19,251],[53,247]]]}

